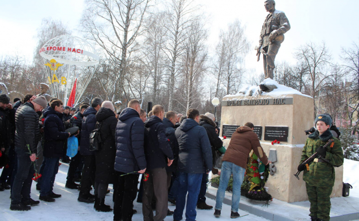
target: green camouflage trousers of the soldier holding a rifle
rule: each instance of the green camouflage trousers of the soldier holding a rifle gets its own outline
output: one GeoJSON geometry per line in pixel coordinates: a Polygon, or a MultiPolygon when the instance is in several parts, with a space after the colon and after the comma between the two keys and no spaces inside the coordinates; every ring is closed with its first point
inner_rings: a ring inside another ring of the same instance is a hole
{"type": "Polygon", "coordinates": [[[330,221],[330,195],[332,194],[333,186],[315,187],[306,183],[307,194],[309,202],[311,203],[310,215],[318,217],[324,221],[330,221]]]}

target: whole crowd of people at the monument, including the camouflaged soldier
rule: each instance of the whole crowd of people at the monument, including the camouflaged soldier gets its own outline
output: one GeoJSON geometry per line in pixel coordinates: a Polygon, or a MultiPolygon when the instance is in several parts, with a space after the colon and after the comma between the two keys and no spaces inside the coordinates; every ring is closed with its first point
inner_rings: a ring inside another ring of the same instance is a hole
{"type": "MultiPolygon", "coordinates": [[[[319,115],[317,130],[307,140],[302,161],[313,152],[320,152],[330,161],[328,165],[311,164],[304,170],[307,192],[311,202],[313,221],[327,221],[330,212],[330,194],[334,185],[331,168],[343,163],[343,150],[338,139],[330,133],[329,117],[319,115]],[[323,142],[335,139],[329,149],[323,142]],[[319,167],[321,179],[316,174],[319,167]],[[323,172],[324,171],[324,172],[323,172]],[[325,181],[326,186],[318,188],[325,181]],[[329,202],[329,204],[328,204],[329,202]]],[[[133,202],[142,203],[144,221],[163,221],[173,216],[195,221],[196,209],[211,210],[206,204],[208,173],[218,174],[220,183],[216,195],[214,216],[219,218],[225,190],[233,175],[231,218],[238,218],[240,187],[247,168],[250,151],[258,161],[268,165],[254,126],[248,122],[233,133],[222,158],[221,171],[214,168],[216,151],[223,146],[218,124],[211,113],[201,115],[189,109],[186,115],[165,112],[155,105],[148,114],[134,99],[128,107],[116,113],[111,101],[96,97],[91,103],[82,103],[78,109],[63,106],[61,100],[26,94],[14,104],[6,94],[0,95],[1,160],[7,166],[0,176],[0,191],[10,190],[10,210],[28,211],[39,205],[30,190],[33,180],[40,191],[39,200],[55,202],[60,194],[53,192],[60,160],[69,162],[66,188],[79,190],[78,202],[94,204],[99,212],[112,212],[114,221],[132,221],[137,213],[133,202]],[[74,129],[74,130],[70,130],[74,129]],[[96,131],[99,148],[93,148],[91,139],[96,131]],[[75,136],[78,151],[67,156],[67,141],[75,136]],[[140,187],[139,178],[141,177],[140,187]],[[80,184],[77,184],[79,183],[80,184]],[[105,204],[108,186],[113,184],[114,206],[105,204]],[[94,188],[94,195],[91,190],[94,188]],[[174,212],[168,202],[176,205],[174,212]],[[153,211],[156,211],[154,214],[153,211]]],[[[321,161],[319,161],[321,162],[321,161]]]]}

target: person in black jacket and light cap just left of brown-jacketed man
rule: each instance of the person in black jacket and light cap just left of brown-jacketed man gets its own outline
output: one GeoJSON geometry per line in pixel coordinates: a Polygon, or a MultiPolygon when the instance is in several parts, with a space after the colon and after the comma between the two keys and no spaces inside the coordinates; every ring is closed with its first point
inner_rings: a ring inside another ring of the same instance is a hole
{"type": "MultiPolygon", "coordinates": [[[[213,166],[215,162],[215,151],[217,151],[217,148],[220,148],[223,145],[222,140],[218,137],[215,130],[217,125],[214,123],[214,115],[211,113],[206,113],[206,115],[200,115],[199,125],[204,127],[204,129],[206,129],[207,136],[212,149],[212,166],[213,166]]],[[[217,174],[218,169],[212,167],[212,173],[217,174]]],[[[206,200],[205,192],[207,190],[207,182],[208,182],[208,174],[203,173],[201,188],[199,190],[198,202],[197,202],[197,209],[199,210],[211,210],[213,208],[212,206],[207,205],[205,202],[206,200]]]]}

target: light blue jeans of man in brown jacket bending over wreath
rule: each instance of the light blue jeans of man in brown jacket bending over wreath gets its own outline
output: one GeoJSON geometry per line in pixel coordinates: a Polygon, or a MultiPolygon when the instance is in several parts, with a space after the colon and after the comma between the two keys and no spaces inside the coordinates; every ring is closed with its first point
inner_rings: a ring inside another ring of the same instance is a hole
{"type": "Polygon", "coordinates": [[[232,212],[238,212],[239,200],[240,200],[240,188],[242,186],[245,169],[237,166],[234,163],[223,161],[222,170],[219,180],[219,187],[216,196],[215,210],[222,210],[222,203],[224,199],[225,191],[228,187],[228,181],[233,174],[233,194],[232,194],[232,212]]]}

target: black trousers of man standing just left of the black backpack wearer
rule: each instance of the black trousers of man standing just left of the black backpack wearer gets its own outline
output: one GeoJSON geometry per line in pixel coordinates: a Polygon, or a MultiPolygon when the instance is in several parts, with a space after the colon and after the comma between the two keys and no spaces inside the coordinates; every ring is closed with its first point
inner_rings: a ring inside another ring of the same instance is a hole
{"type": "Polygon", "coordinates": [[[79,196],[87,197],[90,194],[91,186],[95,182],[95,155],[83,156],[84,168],[82,170],[81,189],[79,196]]]}

